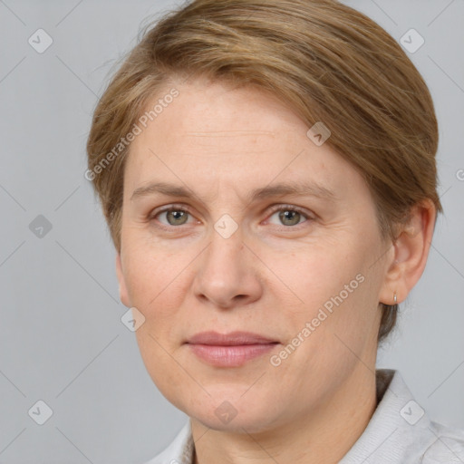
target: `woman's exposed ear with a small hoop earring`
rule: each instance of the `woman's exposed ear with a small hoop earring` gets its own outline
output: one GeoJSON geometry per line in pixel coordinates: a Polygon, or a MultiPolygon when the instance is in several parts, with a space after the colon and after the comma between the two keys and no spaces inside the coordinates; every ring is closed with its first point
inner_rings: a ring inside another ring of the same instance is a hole
{"type": "Polygon", "coordinates": [[[417,284],[429,256],[436,215],[437,210],[430,199],[411,208],[410,220],[400,226],[392,244],[393,257],[379,295],[381,303],[395,304],[394,294],[397,303],[401,303],[417,284]]]}

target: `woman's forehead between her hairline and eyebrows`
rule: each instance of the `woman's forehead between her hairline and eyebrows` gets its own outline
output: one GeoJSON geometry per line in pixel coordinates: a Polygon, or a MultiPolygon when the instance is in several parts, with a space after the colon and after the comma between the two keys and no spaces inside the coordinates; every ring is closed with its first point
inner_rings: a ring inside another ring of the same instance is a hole
{"type": "MultiPolygon", "coordinates": [[[[263,187],[272,179],[336,182],[352,169],[328,144],[308,139],[308,126],[275,96],[222,82],[176,85],[179,95],[131,144],[126,185],[131,193],[156,179],[263,187]],[[338,174],[337,174],[338,172],[338,174]]],[[[162,100],[160,92],[148,108],[162,100]]],[[[353,169],[352,169],[353,170],[353,169]]]]}

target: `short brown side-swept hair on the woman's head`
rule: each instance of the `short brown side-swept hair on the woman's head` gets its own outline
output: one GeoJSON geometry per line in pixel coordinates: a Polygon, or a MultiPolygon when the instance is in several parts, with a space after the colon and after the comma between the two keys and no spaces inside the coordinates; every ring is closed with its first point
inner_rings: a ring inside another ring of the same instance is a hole
{"type": "MultiPolygon", "coordinates": [[[[395,224],[423,199],[441,212],[430,92],[380,25],[335,0],[196,0],[145,27],[93,114],[86,177],[118,251],[130,149],[121,138],[172,78],[192,75],[256,85],[308,128],[322,121],[332,132],[326,143],[366,180],[382,237],[394,239],[395,224]]],[[[381,306],[379,342],[398,309],[381,306]]]]}

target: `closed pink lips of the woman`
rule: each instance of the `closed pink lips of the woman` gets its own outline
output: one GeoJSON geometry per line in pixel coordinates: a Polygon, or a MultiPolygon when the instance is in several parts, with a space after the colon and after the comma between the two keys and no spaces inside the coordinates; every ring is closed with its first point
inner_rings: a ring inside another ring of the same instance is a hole
{"type": "Polygon", "coordinates": [[[250,332],[202,332],[189,338],[186,344],[203,362],[218,367],[238,367],[270,352],[279,342],[250,332]]]}

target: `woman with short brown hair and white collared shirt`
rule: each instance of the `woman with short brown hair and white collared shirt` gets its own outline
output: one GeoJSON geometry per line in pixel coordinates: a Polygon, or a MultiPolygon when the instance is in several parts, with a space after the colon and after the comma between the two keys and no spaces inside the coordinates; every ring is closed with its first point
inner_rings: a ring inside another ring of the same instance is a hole
{"type": "Polygon", "coordinates": [[[145,366],[189,415],[155,463],[464,462],[378,343],[437,214],[430,92],[324,0],[197,0],[99,102],[87,179],[145,366]]]}

